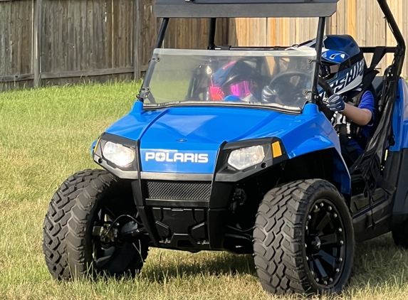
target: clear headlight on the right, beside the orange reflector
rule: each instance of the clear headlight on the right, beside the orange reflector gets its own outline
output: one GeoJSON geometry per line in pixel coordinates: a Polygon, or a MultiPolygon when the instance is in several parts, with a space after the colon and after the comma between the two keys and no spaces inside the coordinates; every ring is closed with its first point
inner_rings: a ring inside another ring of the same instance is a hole
{"type": "Polygon", "coordinates": [[[229,154],[228,164],[239,170],[259,164],[265,158],[263,146],[237,149],[229,154]]]}

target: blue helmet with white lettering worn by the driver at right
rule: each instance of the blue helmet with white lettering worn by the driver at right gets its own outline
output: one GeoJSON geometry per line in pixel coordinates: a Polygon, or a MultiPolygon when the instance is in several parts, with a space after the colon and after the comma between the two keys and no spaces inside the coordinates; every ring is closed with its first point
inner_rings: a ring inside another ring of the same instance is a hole
{"type": "MultiPolygon", "coordinates": [[[[315,48],[315,40],[298,47],[315,48]]],[[[358,89],[362,85],[365,68],[364,56],[354,38],[347,35],[324,37],[319,75],[333,87],[336,94],[358,89]]],[[[320,93],[323,93],[322,89],[320,93]]]]}

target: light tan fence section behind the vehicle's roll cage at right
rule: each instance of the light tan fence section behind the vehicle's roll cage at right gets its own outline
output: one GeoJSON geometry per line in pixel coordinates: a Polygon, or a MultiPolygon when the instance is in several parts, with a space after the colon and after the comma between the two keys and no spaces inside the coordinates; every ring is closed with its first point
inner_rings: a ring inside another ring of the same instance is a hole
{"type": "MultiPolygon", "coordinates": [[[[408,37],[408,1],[387,1],[402,35],[408,37]]],[[[315,18],[237,18],[230,23],[230,38],[239,45],[293,45],[315,38],[318,20],[315,18]]],[[[328,19],[328,34],[350,34],[361,46],[396,45],[377,0],[340,0],[338,11],[328,19]]],[[[408,41],[407,41],[408,43],[408,41]]],[[[370,60],[370,55],[367,55],[370,60]]],[[[388,54],[378,65],[392,63],[388,54]]],[[[403,75],[408,76],[408,56],[403,75]]]]}

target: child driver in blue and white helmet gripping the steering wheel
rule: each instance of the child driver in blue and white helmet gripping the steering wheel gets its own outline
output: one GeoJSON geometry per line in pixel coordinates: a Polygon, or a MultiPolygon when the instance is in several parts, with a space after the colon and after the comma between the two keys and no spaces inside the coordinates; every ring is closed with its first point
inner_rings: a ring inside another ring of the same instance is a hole
{"type": "MultiPolygon", "coordinates": [[[[375,97],[370,88],[363,85],[365,59],[357,42],[351,36],[336,35],[325,36],[323,45],[320,77],[335,91],[335,95],[328,98],[327,105],[338,113],[333,123],[339,133],[342,157],[350,167],[371,137],[375,97]],[[352,98],[352,101],[345,103],[346,98],[352,98]]],[[[314,48],[315,40],[300,46],[314,48]]]]}

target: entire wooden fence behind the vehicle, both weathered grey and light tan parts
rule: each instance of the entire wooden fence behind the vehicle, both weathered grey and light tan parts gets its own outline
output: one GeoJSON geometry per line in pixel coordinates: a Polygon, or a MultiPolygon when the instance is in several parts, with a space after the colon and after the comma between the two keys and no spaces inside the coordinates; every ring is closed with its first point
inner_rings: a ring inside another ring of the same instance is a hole
{"type": "MultiPolygon", "coordinates": [[[[0,0],[0,90],[140,77],[159,28],[155,1],[0,0]]],[[[407,36],[407,0],[388,2],[407,36]]],[[[229,45],[292,45],[317,31],[317,20],[308,18],[217,22],[217,43],[229,45]]],[[[208,20],[171,20],[164,45],[205,48],[208,31],[208,20]]],[[[348,33],[360,45],[395,44],[375,0],[340,0],[327,33],[348,33]]],[[[379,68],[391,60],[388,55],[379,68]]]]}

